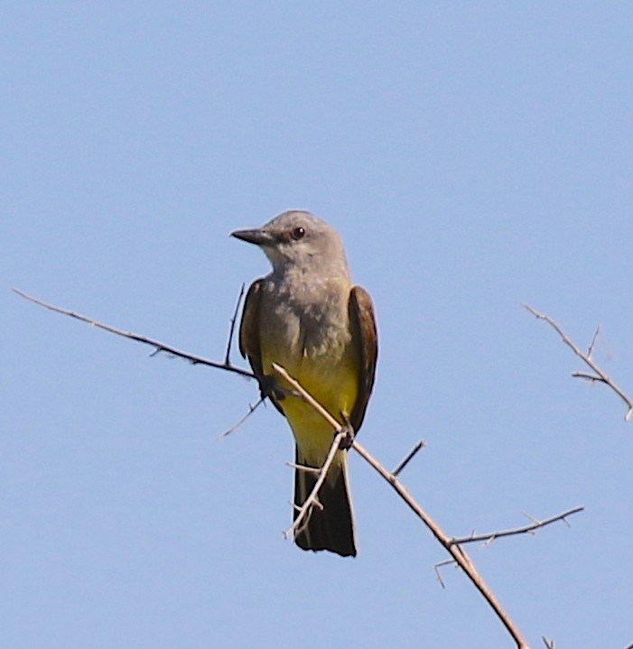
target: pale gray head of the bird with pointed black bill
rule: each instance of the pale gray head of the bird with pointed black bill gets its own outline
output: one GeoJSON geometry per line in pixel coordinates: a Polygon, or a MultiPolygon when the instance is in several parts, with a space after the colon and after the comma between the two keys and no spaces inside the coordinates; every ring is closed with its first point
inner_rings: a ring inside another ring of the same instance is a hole
{"type": "Polygon", "coordinates": [[[262,248],[275,272],[295,267],[313,268],[323,274],[348,274],[340,236],[310,212],[289,210],[262,227],[236,230],[231,236],[262,248]]]}

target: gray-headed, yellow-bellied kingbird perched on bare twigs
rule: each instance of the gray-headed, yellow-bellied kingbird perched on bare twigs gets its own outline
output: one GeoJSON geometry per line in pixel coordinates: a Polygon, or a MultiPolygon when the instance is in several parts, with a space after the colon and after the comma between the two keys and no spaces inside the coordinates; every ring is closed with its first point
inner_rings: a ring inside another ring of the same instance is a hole
{"type": "MultiPolygon", "coordinates": [[[[273,271],[254,282],[244,302],[239,350],[256,375],[271,377],[277,363],[299,381],[341,425],[358,432],[374,385],[377,333],[368,292],[354,286],[340,236],[308,212],[287,211],[265,226],[231,233],[261,247],[273,271]]],[[[321,468],[334,431],[301,397],[276,382],[262,392],[284,414],[296,441],[296,462],[321,468]],[[281,389],[279,389],[281,388],[281,389]]],[[[317,477],[295,470],[300,507],[317,477]]],[[[356,556],[346,468],[339,450],[307,524],[295,533],[303,550],[356,556]]],[[[297,516],[295,508],[294,517],[297,516]]]]}

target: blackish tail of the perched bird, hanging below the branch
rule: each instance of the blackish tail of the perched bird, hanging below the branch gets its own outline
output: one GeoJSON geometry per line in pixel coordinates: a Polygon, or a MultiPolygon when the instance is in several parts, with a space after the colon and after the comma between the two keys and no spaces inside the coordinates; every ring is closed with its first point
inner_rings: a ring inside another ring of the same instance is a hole
{"type": "MultiPolygon", "coordinates": [[[[344,452],[344,451],[341,451],[344,452]]],[[[297,464],[306,466],[299,449],[296,451],[297,464]]],[[[319,491],[319,501],[322,509],[312,508],[307,524],[300,527],[294,535],[294,542],[303,550],[329,550],[341,557],[355,557],[354,521],[349,501],[347,469],[343,458],[342,463],[334,463],[330,474],[319,491]]],[[[303,505],[316,483],[317,477],[296,469],[294,473],[294,504],[303,505]]],[[[294,512],[294,518],[297,512],[294,512]]]]}

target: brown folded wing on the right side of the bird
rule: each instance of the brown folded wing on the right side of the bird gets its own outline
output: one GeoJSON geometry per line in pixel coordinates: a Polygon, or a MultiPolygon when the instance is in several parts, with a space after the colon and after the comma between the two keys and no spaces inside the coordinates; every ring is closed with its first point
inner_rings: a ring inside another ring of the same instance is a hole
{"type": "Polygon", "coordinates": [[[357,341],[360,360],[360,385],[358,399],[349,417],[349,422],[358,432],[365,417],[369,395],[374,387],[376,360],[378,356],[378,336],[374,305],[369,293],[360,286],[352,287],[349,292],[349,329],[351,338],[357,341]]]}

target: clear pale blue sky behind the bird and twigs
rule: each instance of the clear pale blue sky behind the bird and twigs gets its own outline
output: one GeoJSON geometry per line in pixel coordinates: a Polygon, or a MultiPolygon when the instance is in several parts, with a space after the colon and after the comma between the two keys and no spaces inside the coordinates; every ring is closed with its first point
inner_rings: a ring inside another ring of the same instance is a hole
{"type": "MultiPolygon", "coordinates": [[[[221,359],[230,239],[288,208],[377,309],[360,438],[472,547],[532,646],[633,642],[633,5],[6,2],[0,11],[0,645],[508,647],[358,457],[356,560],[284,541],[290,432],[256,385],[20,300],[221,359]]],[[[237,354],[234,356],[237,360],[237,354]]]]}

